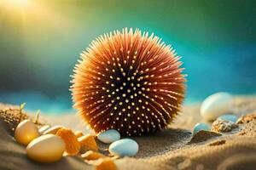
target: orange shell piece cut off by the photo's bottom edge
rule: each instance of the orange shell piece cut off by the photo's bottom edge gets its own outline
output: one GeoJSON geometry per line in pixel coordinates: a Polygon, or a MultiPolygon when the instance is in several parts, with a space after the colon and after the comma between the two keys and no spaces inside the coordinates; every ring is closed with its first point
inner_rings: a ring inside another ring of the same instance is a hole
{"type": "Polygon", "coordinates": [[[113,160],[109,157],[100,158],[95,163],[96,170],[117,170],[118,168],[114,164],[113,160]]]}

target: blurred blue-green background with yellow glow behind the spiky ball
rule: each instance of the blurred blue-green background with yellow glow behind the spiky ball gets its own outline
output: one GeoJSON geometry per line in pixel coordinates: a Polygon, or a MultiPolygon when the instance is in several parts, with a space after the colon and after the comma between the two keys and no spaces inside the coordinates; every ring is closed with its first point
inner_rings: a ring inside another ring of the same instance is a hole
{"type": "Polygon", "coordinates": [[[0,102],[70,111],[79,54],[123,27],[154,32],[176,48],[189,75],[185,104],[218,91],[256,93],[256,1],[0,2],[0,102]]]}

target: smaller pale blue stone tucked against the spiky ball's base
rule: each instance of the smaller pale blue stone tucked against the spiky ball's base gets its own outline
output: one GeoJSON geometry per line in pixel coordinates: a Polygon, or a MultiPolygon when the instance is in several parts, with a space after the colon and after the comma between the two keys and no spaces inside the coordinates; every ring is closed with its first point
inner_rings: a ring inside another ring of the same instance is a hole
{"type": "Polygon", "coordinates": [[[105,144],[110,144],[120,139],[120,133],[117,130],[110,129],[105,132],[99,133],[97,139],[99,139],[105,144]]]}

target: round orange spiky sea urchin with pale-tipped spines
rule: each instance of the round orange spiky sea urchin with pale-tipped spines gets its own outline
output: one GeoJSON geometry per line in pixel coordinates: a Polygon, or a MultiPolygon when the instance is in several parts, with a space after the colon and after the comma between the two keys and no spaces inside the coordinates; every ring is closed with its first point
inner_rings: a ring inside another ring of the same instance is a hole
{"type": "Polygon", "coordinates": [[[74,68],[74,108],[96,133],[158,131],[172,122],[183,102],[179,59],[148,32],[123,29],[98,37],[74,68]]]}

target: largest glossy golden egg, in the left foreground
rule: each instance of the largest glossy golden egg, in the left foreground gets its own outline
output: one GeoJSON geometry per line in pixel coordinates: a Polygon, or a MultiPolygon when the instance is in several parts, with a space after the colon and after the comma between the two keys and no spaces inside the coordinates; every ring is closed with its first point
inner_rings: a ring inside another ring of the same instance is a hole
{"type": "Polygon", "coordinates": [[[45,134],[27,145],[26,154],[33,161],[49,163],[59,161],[65,150],[65,143],[60,137],[45,134]]]}

